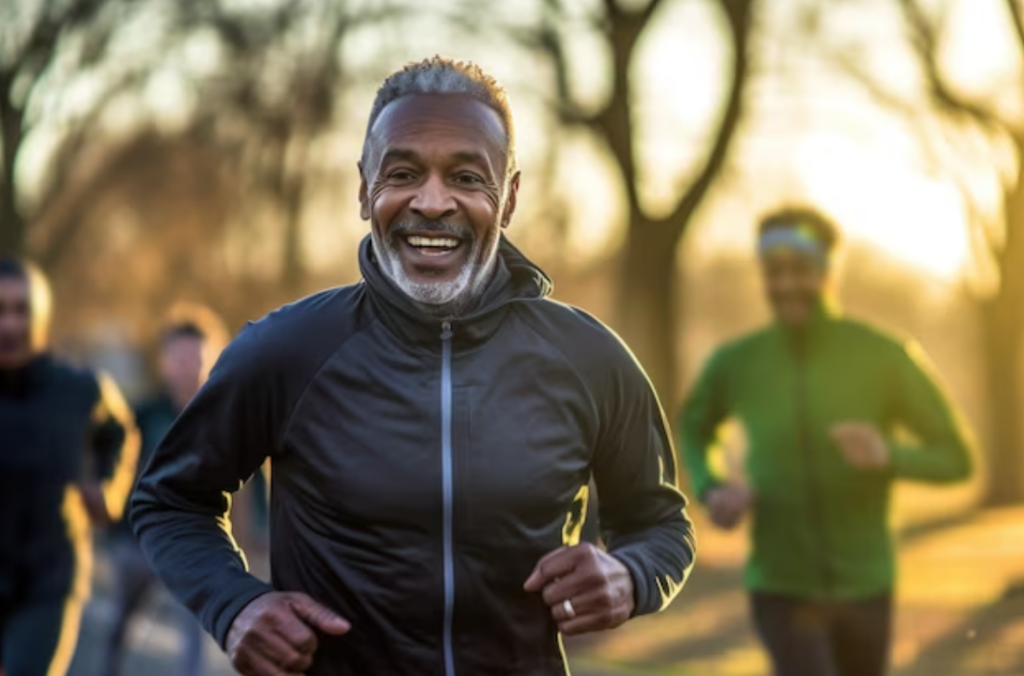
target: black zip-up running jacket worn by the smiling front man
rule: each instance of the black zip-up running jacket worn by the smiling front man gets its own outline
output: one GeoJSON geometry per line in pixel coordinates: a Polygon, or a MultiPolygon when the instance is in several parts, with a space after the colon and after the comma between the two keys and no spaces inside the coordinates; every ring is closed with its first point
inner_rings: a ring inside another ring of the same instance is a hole
{"type": "Polygon", "coordinates": [[[131,517],[171,591],[224,644],[272,589],[352,630],[309,676],[564,674],[557,628],[523,591],[579,539],[591,477],[636,614],[693,562],[657,398],[617,338],[547,300],[503,241],[476,308],[420,312],[360,248],[364,281],[250,325],[143,472],[131,517]],[[269,456],[272,587],[246,573],[228,495],[269,456]]]}

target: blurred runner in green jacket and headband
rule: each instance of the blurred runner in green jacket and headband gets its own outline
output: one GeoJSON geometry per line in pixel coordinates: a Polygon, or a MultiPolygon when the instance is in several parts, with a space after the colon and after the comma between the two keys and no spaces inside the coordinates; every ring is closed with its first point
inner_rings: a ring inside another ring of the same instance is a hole
{"type": "Polygon", "coordinates": [[[837,241],[810,210],[763,220],[774,322],[715,351],[678,426],[712,520],[731,529],[753,517],[744,583],[776,676],[886,672],[893,481],[971,473],[968,434],[921,350],[837,311],[837,241]],[[746,431],[750,488],[709,462],[727,419],[746,431]]]}

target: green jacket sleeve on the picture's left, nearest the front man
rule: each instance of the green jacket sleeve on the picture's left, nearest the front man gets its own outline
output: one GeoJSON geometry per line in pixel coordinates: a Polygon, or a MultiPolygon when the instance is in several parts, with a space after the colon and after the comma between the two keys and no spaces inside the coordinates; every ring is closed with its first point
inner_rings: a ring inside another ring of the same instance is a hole
{"type": "Polygon", "coordinates": [[[703,501],[708,491],[719,483],[712,471],[709,456],[718,441],[718,430],[729,417],[726,402],[726,353],[715,352],[708,361],[693,386],[677,428],[682,447],[683,463],[697,500],[703,501]]]}

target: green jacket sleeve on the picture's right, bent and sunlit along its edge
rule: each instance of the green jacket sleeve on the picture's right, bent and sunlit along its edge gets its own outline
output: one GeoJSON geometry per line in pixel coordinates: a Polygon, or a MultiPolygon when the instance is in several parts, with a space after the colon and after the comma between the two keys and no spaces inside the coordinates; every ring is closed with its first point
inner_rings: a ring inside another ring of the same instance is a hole
{"type": "Polygon", "coordinates": [[[893,372],[894,422],[915,437],[914,443],[893,443],[895,476],[935,483],[970,476],[971,434],[924,352],[912,344],[901,348],[893,372]]]}

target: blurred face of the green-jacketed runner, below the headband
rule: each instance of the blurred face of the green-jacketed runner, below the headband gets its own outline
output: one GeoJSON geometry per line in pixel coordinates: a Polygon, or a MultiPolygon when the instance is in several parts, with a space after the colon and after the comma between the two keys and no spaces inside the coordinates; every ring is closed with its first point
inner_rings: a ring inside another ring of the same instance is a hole
{"type": "Polygon", "coordinates": [[[776,249],[762,255],[761,273],[775,318],[791,327],[806,325],[824,292],[821,262],[805,253],[776,249]]]}

